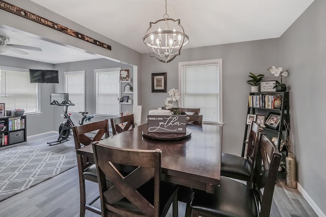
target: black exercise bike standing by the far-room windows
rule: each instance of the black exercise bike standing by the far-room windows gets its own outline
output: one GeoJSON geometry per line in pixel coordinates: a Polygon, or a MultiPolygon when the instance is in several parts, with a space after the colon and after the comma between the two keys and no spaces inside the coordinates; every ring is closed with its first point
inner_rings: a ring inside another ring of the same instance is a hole
{"type": "MultiPolygon", "coordinates": [[[[62,114],[62,117],[65,119],[65,121],[62,124],[60,124],[60,126],[59,126],[58,139],[55,141],[46,142],[47,144],[49,144],[51,146],[51,145],[58,145],[60,143],[64,143],[69,139],[70,131],[71,131],[72,127],[75,125],[72,122],[72,120],[70,119],[71,114],[68,114],[68,107],[75,105],[75,104],[73,104],[70,100],[69,100],[69,102],[64,100],[61,103],[59,103],[56,100],[53,100],[50,104],[64,106],[64,114],[62,114]]],[[[88,112],[79,112],[79,113],[81,113],[83,116],[82,120],[78,122],[79,125],[88,123],[91,121],[92,118],[94,118],[94,115],[88,115],[88,112]]]]}

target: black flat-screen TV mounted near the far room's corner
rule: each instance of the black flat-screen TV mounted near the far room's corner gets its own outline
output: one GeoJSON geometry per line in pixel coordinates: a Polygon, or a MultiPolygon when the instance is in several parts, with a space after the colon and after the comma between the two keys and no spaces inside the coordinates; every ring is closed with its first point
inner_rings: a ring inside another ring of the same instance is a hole
{"type": "Polygon", "coordinates": [[[30,83],[59,83],[59,71],[30,69],[30,83]]]}

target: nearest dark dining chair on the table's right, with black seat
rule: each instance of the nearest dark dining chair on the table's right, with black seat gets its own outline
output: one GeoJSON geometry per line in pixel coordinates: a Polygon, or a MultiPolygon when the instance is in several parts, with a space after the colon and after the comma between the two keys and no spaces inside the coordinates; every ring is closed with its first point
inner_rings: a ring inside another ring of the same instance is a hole
{"type": "Polygon", "coordinates": [[[269,216],[280,159],[276,145],[260,133],[253,187],[221,177],[214,194],[195,192],[192,216],[269,216]]]}

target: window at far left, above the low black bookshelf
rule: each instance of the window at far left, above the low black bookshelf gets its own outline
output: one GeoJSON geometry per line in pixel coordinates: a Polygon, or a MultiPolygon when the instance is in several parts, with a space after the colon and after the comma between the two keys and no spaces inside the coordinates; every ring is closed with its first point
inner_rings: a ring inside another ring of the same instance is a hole
{"type": "Polygon", "coordinates": [[[38,85],[30,83],[26,70],[0,69],[0,102],[6,110],[23,108],[26,113],[39,112],[38,85]]]}

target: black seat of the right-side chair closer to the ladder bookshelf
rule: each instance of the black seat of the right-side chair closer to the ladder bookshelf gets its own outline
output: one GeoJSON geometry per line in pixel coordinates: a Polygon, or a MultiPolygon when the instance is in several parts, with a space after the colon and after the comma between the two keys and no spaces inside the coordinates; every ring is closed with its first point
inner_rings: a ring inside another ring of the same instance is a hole
{"type": "Polygon", "coordinates": [[[250,181],[250,168],[248,159],[233,154],[222,153],[221,176],[250,181]]]}

